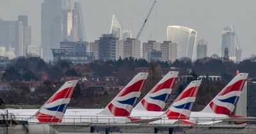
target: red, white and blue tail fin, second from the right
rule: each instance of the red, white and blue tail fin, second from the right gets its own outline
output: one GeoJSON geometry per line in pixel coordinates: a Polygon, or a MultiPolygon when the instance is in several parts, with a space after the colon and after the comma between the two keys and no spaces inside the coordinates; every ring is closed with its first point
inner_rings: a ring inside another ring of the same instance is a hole
{"type": "Polygon", "coordinates": [[[180,93],[172,105],[166,110],[165,115],[168,119],[189,119],[191,108],[196,100],[201,80],[195,80],[180,93]]]}

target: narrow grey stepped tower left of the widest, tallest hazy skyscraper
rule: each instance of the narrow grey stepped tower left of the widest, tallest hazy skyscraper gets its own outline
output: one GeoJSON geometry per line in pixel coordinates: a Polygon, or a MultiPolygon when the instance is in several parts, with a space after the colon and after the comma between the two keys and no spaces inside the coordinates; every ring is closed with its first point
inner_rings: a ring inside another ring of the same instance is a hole
{"type": "Polygon", "coordinates": [[[31,26],[28,26],[28,16],[19,15],[18,21],[22,22],[23,27],[23,54],[22,56],[26,56],[28,53],[28,46],[31,45],[31,26]]]}

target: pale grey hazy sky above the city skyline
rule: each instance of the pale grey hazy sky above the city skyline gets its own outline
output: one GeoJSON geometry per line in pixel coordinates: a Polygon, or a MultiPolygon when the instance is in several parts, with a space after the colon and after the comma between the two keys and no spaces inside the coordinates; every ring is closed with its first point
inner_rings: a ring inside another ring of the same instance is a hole
{"type": "MultiPolygon", "coordinates": [[[[18,15],[28,15],[32,27],[32,45],[40,45],[41,3],[43,0],[0,0],[0,18],[17,20],[18,15]]],[[[72,0],[74,1],[74,0],[72,0]]],[[[113,13],[128,29],[132,20],[136,36],[153,0],[81,0],[87,41],[97,40],[109,33],[113,13]]],[[[158,0],[150,19],[141,34],[141,41],[166,40],[166,27],[186,26],[204,36],[209,42],[209,56],[221,48],[221,30],[235,26],[243,49],[242,57],[256,54],[256,1],[255,0],[158,0]]],[[[218,53],[219,55],[221,52],[218,53]]]]}

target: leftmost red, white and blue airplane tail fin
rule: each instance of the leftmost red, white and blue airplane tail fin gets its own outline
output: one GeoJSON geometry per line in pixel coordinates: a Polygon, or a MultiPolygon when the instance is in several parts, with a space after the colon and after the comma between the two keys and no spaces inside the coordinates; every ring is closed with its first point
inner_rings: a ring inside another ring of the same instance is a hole
{"type": "Polygon", "coordinates": [[[78,80],[65,82],[49,100],[36,112],[35,117],[40,123],[60,123],[68,103],[74,93],[78,80]]]}

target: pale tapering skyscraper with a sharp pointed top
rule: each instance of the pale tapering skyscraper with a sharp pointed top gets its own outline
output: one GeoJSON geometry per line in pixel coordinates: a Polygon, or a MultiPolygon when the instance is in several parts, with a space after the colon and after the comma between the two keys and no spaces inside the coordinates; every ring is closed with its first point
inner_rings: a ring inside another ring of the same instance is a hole
{"type": "Polygon", "coordinates": [[[122,39],[122,28],[115,15],[113,15],[112,18],[110,33],[113,34],[116,38],[122,39]]]}

